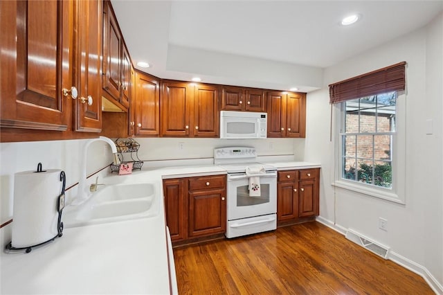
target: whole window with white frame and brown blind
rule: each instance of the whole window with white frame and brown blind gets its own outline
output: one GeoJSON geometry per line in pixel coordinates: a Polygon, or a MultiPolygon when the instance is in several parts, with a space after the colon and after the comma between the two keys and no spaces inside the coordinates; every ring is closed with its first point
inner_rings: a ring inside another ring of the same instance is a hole
{"type": "Polygon", "coordinates": [[[334,186],[405,204],[406,62],[329,85],[334,186]]]}

